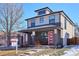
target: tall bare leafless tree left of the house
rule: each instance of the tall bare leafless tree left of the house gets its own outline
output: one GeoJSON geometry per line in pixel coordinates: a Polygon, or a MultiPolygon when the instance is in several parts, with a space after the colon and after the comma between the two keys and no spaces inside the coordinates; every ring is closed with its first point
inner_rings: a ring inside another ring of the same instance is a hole
{"type": "Polygon", "coordinates": [[[0,4],[0,31],[6,34],[7,46],[11,44],[11,32],[19,29],[22,14],[22,4],[0,4]]]}

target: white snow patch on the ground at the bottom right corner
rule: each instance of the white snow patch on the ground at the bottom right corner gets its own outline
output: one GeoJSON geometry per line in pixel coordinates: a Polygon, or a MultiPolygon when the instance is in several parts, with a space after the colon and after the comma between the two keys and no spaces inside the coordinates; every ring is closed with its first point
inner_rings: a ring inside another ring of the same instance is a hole
{"type": "Polygon", "coordinates": [[[68,51],[64,51],[62,56],[75,56],[79,52],[79,45],[74,45],[68,51]]]}

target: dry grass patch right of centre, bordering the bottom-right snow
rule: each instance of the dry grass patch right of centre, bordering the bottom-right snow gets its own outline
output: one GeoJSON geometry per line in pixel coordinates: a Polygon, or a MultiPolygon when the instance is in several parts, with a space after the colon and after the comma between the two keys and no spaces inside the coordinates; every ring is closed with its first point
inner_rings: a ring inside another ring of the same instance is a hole
{"type": "Polygon", "coordinates": [[[49,56],[61,56],[64,54],[64,51],[68,50],[68,48],[62,48],[62,49],[44,49],[42,51],[39,51],[38,53],[32,54],[33,56],[44,56],[44,55],[49,55],[49,56]]]}

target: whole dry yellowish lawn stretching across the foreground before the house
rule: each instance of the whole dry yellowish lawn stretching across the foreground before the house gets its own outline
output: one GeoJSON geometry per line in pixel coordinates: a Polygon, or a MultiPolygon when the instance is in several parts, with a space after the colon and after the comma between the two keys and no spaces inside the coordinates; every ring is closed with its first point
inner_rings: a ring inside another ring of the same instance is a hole
{"type": "Polygon", "coordinates": [[[49,56],[60,56],[64,54],[64,51],[67,50],[68,48],[62,48],[62,49],[53,49],[53,48],[47,48],[47,49],[42,49],[39,52],[32,53],[34,51],[32,50],[18,50],[18,54],[16,54],[16,50],[5,50],[5,51],[0,51],[0,56],[18,56],[21,54],[30,54],[32,56],[44,56],[44,55],[49,55],[49,56]]]}

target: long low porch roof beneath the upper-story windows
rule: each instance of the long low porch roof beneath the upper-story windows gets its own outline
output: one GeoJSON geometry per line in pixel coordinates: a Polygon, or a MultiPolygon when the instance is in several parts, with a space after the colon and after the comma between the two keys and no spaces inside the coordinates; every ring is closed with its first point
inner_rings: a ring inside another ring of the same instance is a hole
{"type": "Polygon", "coordinates": [[[32,31],[48,31],[48,30],[53,30],[53,29],[62,30],[62,28],[60,27],[56,27],[54,25],[47,25],[47,26],[41,26],[41,27],[27,28],[27,29],[20,30],[19,32],[28,33],[32,31]]]}

